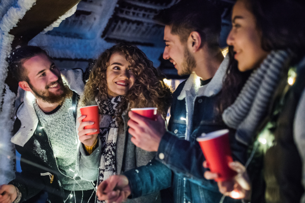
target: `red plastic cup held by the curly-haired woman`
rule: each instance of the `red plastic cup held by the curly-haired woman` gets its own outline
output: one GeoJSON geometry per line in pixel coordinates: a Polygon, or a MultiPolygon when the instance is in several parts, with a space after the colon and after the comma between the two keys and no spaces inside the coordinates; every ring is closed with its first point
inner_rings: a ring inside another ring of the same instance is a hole
{"type": "Polygon", "coordinates": [[[83,122],[84,121],[94,121],[93,125],[87,125],[84,127],[84,129],[95,128],[98,130],[96,132],[87,133],[86,135],[88,136],[89,134],[99,133],[99,130],[100,130],[99,106],[94,105],[94,106],[82,107],[82,108],[80,108],[80,113],[81,113],[81,115],[86,115],[86,117],[82,120],[83,122]]]}

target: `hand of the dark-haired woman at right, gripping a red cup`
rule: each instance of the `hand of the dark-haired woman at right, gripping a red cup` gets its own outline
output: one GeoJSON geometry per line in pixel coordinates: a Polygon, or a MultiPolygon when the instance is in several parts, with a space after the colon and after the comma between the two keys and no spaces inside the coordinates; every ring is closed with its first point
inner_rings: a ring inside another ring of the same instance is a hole
{"type": "MultiPolygon", "coordinates": [[[[237,172],[237,175],[229,181],[217,182],[219,191],[232,198],[236,199],[251,199],[251,183],[246,171],[246,167],[238,161],[233,161],[228,164],[229,167],[237,172]]],[[[203,162],[203,167],[208,168],[206,161],[203,162]]],[[[204,173],[204,178],[207,180],[215,180],[218,178],[217,173],[207,171],[204,173]]]]}

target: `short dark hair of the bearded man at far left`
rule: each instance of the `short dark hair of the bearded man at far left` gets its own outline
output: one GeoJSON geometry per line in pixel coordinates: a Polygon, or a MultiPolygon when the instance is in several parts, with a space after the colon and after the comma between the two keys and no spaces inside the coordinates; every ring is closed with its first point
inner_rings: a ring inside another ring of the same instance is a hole
{"type": "Polygon", "coordinates": [[[11,54],[6,58],[7,62],[9,63],[9,71],[18,82],[29,82],[26,70],[23,67],[23,62],[39,54],[45,54],[50,58],[46,50],[43,50],[37,46],[22,46],[13,50],[11,54]]]}

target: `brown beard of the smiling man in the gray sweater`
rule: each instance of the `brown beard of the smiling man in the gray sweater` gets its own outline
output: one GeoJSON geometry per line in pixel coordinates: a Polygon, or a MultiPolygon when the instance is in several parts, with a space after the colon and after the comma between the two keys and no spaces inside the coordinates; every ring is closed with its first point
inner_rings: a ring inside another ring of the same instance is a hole
{"type": "Polygon", "coordinates": [[[49,104],[58,104],[62,105],[63,101],[67,97],[71,97],[73,92],[69,89],[68,86],[64,85],[63,81],[58,79],[56,82],[53,82],[45,87],[45,90],[38,90],[36,89],[30,82],[28,82],[28,86],[32,89],[32,91],[35,93],[35,96],[37,98],[41,98],[43,101],[49,103],[49,104]],[[62,90],[62,94],[55,94],[53,92],[48,91],[49,86],[52,86],[53,84],[58,83],[60,85],[60,90],[62,90]]]}

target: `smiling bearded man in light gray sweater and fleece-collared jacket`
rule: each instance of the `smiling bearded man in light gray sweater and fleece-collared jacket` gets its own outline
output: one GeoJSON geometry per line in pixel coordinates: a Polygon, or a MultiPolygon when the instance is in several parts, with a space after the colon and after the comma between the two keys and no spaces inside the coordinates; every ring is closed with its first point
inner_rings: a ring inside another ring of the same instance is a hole
{"type": "MultiPolygon", "coordinates": [[[[26,91],[14,123],[11,142],[21,154],[21,174],[0,186],[0,202],[22,202],[40,191],[49,202],[94,202],[92,182],[76,173],[78,94],[84,88],[82,71],[62,76],[47,52],[24,46],[8,57],[9,69],[26,91]],[[67,86],[69,85],[69,87],[67,86]],[[76,197],[75,197],[76,196],[76,197]]],[[[89,157],[93,157],[94,153],[89,157]]]]}

